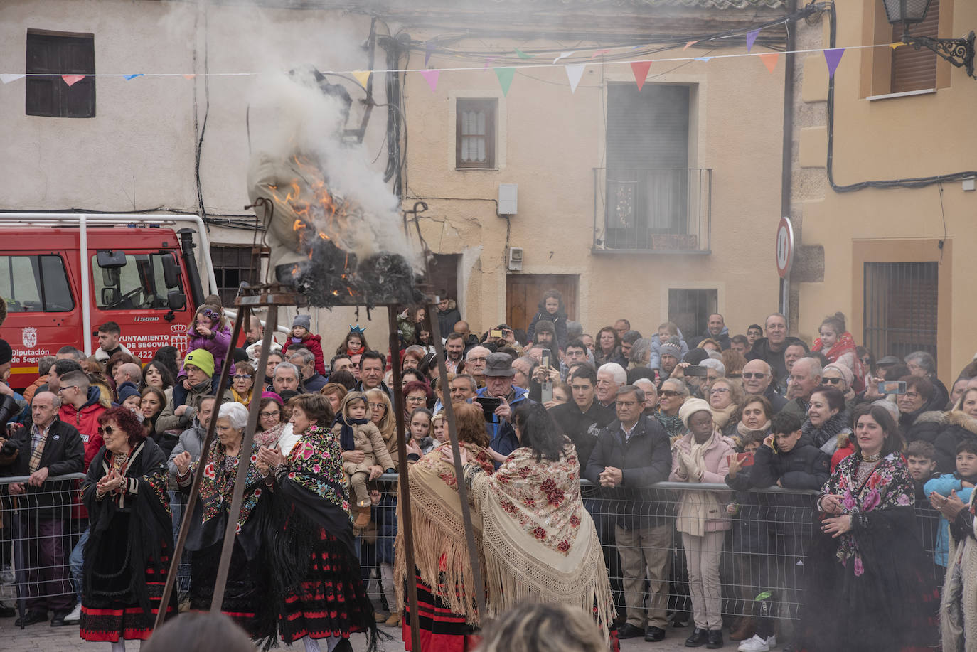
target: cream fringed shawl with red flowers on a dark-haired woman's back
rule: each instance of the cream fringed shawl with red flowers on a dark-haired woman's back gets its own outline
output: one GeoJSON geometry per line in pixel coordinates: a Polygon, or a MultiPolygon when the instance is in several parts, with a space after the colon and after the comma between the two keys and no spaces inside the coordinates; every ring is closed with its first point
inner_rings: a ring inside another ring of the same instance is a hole
{"type": "Polygon", "coordinates": [[[527,601],[562,602],[593,612],[608,636],[611,585],[580,499],[573,446],[557,461],[538,462],[531,449],[520,448],[494,474],[469,465],[465,477],[481,517],[488,613],[527,601]]]}

